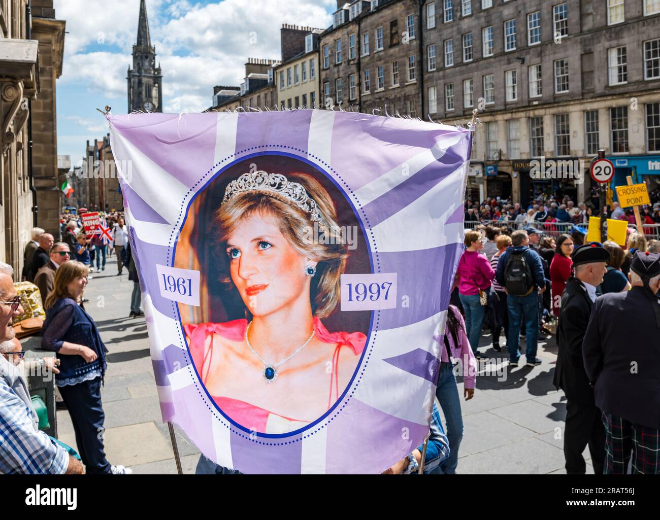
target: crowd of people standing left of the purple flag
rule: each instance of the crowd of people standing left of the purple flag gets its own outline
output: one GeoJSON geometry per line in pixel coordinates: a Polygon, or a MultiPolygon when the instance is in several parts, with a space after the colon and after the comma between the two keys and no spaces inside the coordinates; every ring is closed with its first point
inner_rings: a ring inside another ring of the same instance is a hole
{"type": "Polygon", "coordinates": [[[104,411],[101,387],[107,367],[104,345],[94,319],[84,308],[84,290],[96,270],[117,256],[117,276],[127,267],[133,281],[130,317],[144,316],[135,261],[131,255],[123,215],[102,215],[109,240],[98,234],[91,240],[79,215],[63,214],[59,240],[40,228],[24,250],[21,282],[13,282],[13,269],[0,264],[0,473],[129,474],[131,469],[111,465],[104,452],[104,411]],[[107,223],[106,223],[107,222],[107,223]],[[29,296],[27,296],[29,295],[29,296]],[[38,414],[30,399],[25,374],[26,352],[16,339],[16,323],[26,315],[44,316],[35,334],[41,348],[55,357],[40,358],[55,374],[58,408],[69,412],[78,453],[39,429],[38,414]],[[17,321],[18,320],[18,321],[17,321]],[[6,439],[6,440],[5,440],[6,439]],[[82,464],[81,464],[82,462],[82,464]]]}

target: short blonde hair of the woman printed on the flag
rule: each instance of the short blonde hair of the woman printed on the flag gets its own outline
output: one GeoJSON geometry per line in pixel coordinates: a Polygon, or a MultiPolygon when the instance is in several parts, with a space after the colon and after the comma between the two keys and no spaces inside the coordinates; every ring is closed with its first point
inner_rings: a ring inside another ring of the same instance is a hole
{"type": "MultiPolygon", "coordinates": [[[[339,303],[340,276],[346,269],[348,245],[344,243],[345,239],[339,230],[335,205],[321,183],[302,173],[287,174],[286,179],[301,184],[316,202],[317,210],[323,217],[323,222],[317,223],[319,234],[325,234],[323,242],[329,242],[328,244],[309,240],[310,230],[314,230],[315,223],[308,212],[273,191],[238,193],[221,205],[215,212],[218,237],[224,249],[229,236],[242,220],[254,214],[274,216],[282,236],[288,243],[300,255],[317,262],[316,274],[310,286],[310,303],[314,315],[327,317],[339,303]]],[[[228,272],[222,276],[221,281],[232,283],[228,272]]]]}

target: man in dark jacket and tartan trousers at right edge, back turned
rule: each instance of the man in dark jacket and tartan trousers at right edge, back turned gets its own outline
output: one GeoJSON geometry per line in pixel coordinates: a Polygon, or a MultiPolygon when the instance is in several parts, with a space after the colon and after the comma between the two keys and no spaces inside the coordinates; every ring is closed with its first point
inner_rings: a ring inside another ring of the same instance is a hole
{"type": "MultiPolygon", "coordinates": [[[[584,368],[603,410],[605,468],[659,474],[660,255],[636,253],[632,288],[596,300],[582,346],[584,368]]],[[[564,310],[562,310],[562,315],[564,310]]]]}

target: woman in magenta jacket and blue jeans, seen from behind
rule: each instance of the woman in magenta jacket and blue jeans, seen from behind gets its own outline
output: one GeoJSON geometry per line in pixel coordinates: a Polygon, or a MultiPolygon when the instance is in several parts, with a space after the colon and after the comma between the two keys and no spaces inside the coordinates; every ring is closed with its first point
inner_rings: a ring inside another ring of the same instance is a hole
{"type": "Polygon", "coordinates": [[[484,247],[481,243],[481,235],[476,231],[465,234],[465,246],[461,260],[458,263],[456,278],[458,278],[458,296],[465,311],[465,325],[467,326],[467,337],[470,339],[472,350],[477,359],[483,357],[477,348],[481,337],[481,327],[484,323],[484,311],[486,306],[480,302],[479,291],[488,294],[490,283],[495,278],[495,271],[490,267],[486,255],[479,253],[484,247]]]}

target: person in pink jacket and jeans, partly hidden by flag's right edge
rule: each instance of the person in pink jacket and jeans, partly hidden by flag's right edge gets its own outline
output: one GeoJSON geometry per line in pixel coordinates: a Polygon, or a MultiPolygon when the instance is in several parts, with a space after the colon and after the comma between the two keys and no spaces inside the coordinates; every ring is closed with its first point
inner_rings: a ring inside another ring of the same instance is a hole
{"type": "MultiPolygon", "coordinates": [[[[436,337],[436,341],[440,341],[440,338],[436,337]]],[[[458,465],[458,449],[461,439],[463,439],[463,418],[461,417],[461,399],[458,394],[453,364],[458,361],[461,365],[463,393],[465,401],[469,401],[475,395],[477,360],[465,333],[463,316],[453,305],[447,309],[447,326],[442,338],[441,361],[436,397],[442,408],[442,414],[445,416],[449,457],[440,465],[437,472],[454,474],[458,465]]]]}

